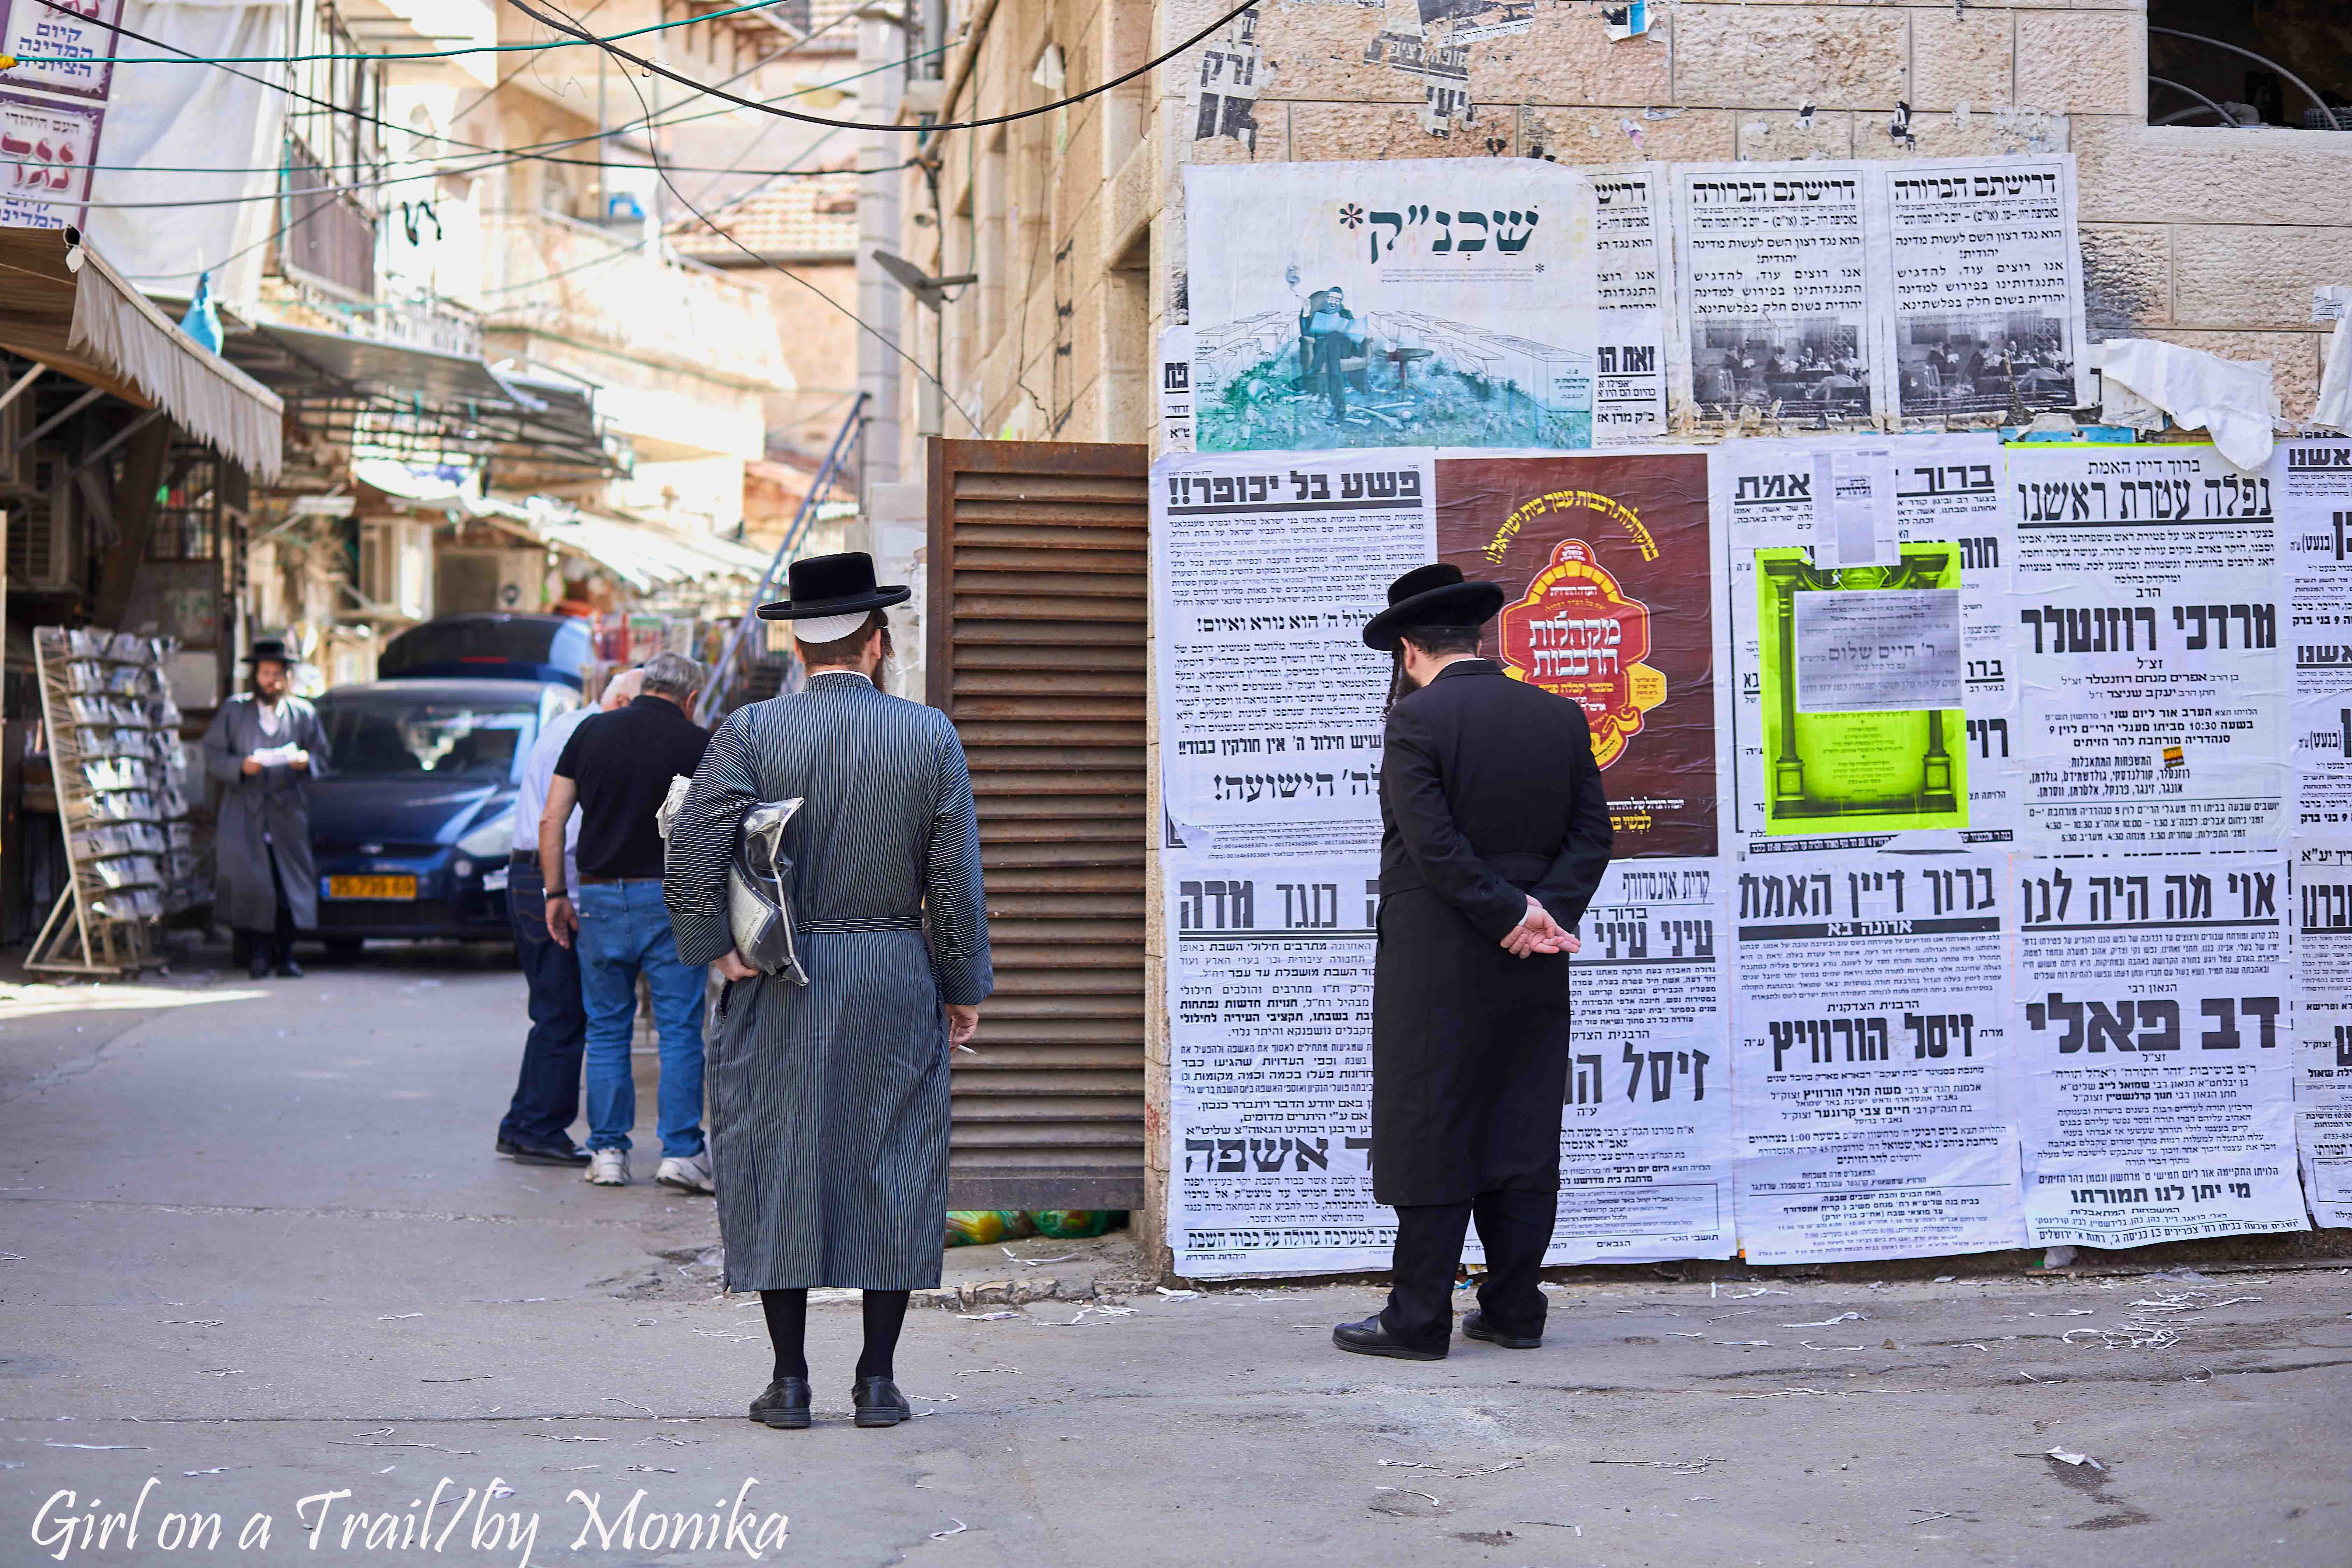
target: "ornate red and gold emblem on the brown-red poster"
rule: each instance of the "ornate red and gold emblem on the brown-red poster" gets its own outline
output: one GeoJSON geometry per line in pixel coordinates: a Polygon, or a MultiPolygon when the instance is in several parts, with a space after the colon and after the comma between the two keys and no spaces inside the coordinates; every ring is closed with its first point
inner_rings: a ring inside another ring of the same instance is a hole
{"type": "Polygon", "coordinates": [[[1665,677],[1642,663],[1649,604],[1628,599],[1581,538],[1559,541],[1526,597],[1503,607],[1501,635],[1512,679],[1583,705],[1602,766],[1625,755],[1642,715],[1665,701],[1665,677]]]}

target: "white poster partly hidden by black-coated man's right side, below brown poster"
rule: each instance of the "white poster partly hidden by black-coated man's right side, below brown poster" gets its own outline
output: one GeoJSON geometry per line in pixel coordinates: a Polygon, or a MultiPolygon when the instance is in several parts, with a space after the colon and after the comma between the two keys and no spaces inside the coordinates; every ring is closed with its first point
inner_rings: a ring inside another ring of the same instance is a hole
{"type": "Polygon", "coordinates": [[[1545,1262],[1733,1251],[1722,891],[1717,860],[1618,860],[1585,910],[1545,1262]]]}

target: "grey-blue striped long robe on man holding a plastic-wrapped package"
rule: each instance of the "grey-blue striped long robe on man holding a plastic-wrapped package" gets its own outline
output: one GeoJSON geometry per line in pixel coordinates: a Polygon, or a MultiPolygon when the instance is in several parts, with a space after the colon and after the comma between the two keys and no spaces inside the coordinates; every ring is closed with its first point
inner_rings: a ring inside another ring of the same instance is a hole
{"type": "Polygon", "coordinates": [[[743,811],[786,827],[809,985],[734,980],[706,1030],[727,1288],[927,1291],[948,1213],[946,1004],[995,985],[981,832],[955,726],[861,677],[720,724],[670,825],[677,957],[710,964],[743,811]]]}

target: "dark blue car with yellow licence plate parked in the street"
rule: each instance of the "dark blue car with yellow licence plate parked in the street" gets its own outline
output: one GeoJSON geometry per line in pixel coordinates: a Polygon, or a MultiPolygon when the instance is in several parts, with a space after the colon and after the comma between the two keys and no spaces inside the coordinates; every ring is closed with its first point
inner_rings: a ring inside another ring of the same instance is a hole
{"type": "Polygon", "coordinates": [[[379,679],[318,698],[327,773],[308,797],[327,950],[355,954],[372,936],[506,938],[522,764],[579,703],[576,682],[513,677],[379,679]]]}

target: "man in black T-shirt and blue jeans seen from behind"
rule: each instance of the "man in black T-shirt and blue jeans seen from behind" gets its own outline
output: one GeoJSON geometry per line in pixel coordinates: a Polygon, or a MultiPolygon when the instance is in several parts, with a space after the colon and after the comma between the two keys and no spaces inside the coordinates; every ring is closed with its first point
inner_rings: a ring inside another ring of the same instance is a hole
{"type": "MultiPolygon", "coordinates": [[[[581,809],[579,886],[548,889],[548,936],[579,945],[581,1001],[588,1006],[588,1180],[628,1185],[628,1133],[637,1084],[628,1044],[637,1027],[637,976],[654,994],[661,1034],[661,1166],[654,1180],[710,1192],[703,1147],[703,971],[677,959],[670,910],[661,900],[661,830],[654,813],[670,778],[694,776],[710,733],[689,715],[703,668],[680,654],[644,661],[644,689],[626,708],[600,712],[564,741],[539,816],[539,865],[562,865],[564,820],[581,809]]],[[[548,877],[555,882],[555,877],[548,877]]]]}

